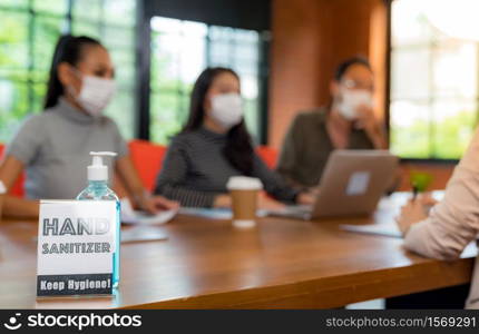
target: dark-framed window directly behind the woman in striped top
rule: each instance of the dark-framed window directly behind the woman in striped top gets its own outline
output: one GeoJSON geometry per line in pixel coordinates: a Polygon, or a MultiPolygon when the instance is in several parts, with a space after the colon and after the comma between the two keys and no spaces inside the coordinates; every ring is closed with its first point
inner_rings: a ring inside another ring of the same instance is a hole
{"type": "Polygon", "coordinates": [[[192,87],[206,67],[229,67],[241,77],[245,119],[261,135],[261,46],[254,30],[154,17],[151,26],[150,139],[167,144],[188,116],[192,87]]]}

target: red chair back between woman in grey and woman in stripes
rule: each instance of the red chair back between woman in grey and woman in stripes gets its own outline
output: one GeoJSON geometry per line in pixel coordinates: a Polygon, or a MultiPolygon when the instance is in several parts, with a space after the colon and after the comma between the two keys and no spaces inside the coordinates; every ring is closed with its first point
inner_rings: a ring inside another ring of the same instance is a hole
{"type": "Polygon", "coordinates": [[[162,170],[166,147],[147,140],[135,139],[128,144],[130,157],[143,185],[150,191],[155,188],[156,177],[162,170]]]}

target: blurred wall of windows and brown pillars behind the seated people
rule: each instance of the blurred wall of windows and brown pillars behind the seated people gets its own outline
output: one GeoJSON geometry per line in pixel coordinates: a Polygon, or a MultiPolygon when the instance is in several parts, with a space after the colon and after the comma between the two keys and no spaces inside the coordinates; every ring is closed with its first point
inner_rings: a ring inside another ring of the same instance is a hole
{"type": "Polygon", "coordinates": [[[478,12],[479,0],[2,0],[0,141],[42,110],[66,32],[110,50],[119,89],[107,114],[123,135],[163,145],[206,66],[240,73],[255,141],[280,148],[295,114],[329,102],[335,66],[362,55],[391,150],[440,188],[478,119],[478,12]]]}

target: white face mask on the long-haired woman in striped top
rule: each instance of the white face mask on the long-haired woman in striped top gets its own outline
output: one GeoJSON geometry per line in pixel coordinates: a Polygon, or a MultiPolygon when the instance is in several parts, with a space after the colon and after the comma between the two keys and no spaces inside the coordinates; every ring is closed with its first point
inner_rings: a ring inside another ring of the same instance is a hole
{"type": "Polygon", "coordinates": [[[243,100],[236,92],[221,94],[212,98],[209,116],[225,129],[231,129],[243,119],[243,100]]]}

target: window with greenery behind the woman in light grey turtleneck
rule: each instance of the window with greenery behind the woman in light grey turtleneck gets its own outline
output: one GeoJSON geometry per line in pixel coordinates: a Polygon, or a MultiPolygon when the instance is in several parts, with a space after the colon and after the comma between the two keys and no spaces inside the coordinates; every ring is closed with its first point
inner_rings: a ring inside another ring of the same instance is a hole
{"type": "Polygon", "coordinates": [[[135,0],[2,0],[0,2],[0,141],[29,112],[42,110],[51,57],[61,33],[99,38],[117,69],[106,111],[134,136],[135,0]]]}

